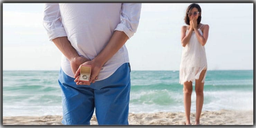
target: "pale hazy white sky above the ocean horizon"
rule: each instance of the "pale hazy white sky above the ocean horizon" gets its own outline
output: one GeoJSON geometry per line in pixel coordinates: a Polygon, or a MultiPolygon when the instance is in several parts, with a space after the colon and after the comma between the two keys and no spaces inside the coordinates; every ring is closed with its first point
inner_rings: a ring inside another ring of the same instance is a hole
{"type": "MultiPolygon", "coordinates": [[[[126,42],[131,70],[179,70],[181,27],[191,3],[142,3],[126,42]]],[[[199,3],[208,24],[208,70],[253,70],[253,3],[199,3]]],[[[3,70],[60,70],[43,27],[44,3],[3,3],[3,70]]]]}

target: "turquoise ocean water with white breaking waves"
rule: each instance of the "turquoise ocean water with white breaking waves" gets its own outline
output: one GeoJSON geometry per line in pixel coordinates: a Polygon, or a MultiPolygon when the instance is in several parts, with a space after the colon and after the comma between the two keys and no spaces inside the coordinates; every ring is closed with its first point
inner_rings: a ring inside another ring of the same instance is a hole
{"type": "MultiPolygon", "coordinates": [[[[58,71],[3,71],[3,116],[62,115],[58,71]]],[[[191,97],[195,112],[196,95],[191,97]]],[[[202,111],[253,110],[253,70],[208,71],[202,111]]],[[[131,71],[132,113],[184,112],[179,71],[131,71]]]]}

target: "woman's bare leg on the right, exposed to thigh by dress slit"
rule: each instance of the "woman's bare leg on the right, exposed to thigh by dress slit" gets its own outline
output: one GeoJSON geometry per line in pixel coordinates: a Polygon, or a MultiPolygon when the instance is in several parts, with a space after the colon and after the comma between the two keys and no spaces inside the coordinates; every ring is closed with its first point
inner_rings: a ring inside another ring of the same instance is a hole
{"type": "Polygon", "coordinates": [[[196,93],[196,117],[194,125],[199,125],[200,116],[203,108],[203,86],[202,83],[203,77],[205,75],[206,70],[203,70],[200,73],[199,79],[195,80],[195,93],[196,93]]]}

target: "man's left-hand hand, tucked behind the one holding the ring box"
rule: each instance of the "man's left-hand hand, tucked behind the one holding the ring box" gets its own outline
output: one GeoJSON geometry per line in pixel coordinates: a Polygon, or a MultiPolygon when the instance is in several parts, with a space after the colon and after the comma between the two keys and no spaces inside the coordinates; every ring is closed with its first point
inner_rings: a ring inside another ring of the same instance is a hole
{"type": "Polygon", "coordinates": [[[88,59],[86,59],[84,57],[81,57],[81,56],[77,56],[77,57],[71,58],[70,66],[71,66],[71,70],[74,73],[74,75],[75,75],[77,69],[79,68],[79,66],[81,64],[83,64],[84,62],[87,62],[87,61],[90,61],[90,60],[88,60],[88,59]]]}

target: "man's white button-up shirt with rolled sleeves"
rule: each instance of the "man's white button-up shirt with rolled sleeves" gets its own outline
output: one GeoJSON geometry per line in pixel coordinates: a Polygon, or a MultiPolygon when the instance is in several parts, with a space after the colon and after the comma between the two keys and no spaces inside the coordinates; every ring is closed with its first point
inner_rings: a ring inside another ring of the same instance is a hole
{"type": "MultiPolygon", "coordinates": [[[[67,36],[76,52],[93,60],[108,44],[115,30],[130,38],[137,30],[141,3],[46,3],[43,25],[49,40],[67,36]]],[[[102,67],[98,80],[108,78],[129,62],[125,45],[102,67]]],[[[62,55],[62,70],[74,77],[70,62],[62,55]]]]}

